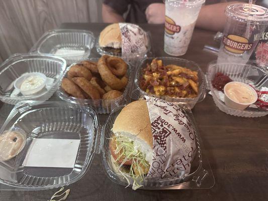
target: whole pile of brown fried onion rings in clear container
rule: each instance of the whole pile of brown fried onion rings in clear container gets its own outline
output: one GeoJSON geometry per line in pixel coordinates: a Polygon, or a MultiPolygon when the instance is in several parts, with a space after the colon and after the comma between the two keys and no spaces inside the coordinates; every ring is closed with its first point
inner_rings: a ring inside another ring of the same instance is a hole
{"type": "Polygon", "coordinates": [[[72,97],[108,100],[120,97],[127,83],[127,63],[104,55],[98,62],[81,61],[71,66],[61,88],[72,97]]]}

